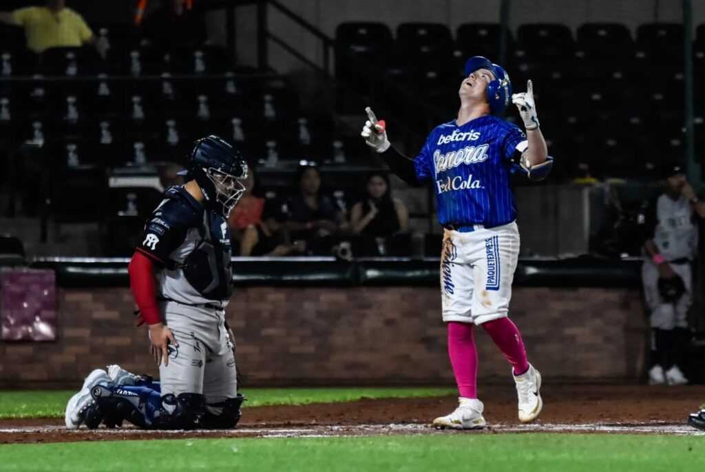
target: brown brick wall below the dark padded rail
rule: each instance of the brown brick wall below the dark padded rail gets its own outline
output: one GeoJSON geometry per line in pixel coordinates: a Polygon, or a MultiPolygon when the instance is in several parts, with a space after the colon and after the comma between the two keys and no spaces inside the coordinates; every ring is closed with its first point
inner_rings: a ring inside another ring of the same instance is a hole
{"type": "MultiPolygon", "coordinates": [[[[250,385],[452,385],[436,288],[237,290],[228,323],[250,385]]],[[[146,330],[135,329],[128,289],[59,289],[56,342],[0,342],[0,386],[75,385],[93,368],[155,373],[146,330]]],[[[517,288],[510,316],[547,378],[642,375],[646,319],[637,290],[517,288]]],[[[509,365],[477,330],[479,375],[509,365]]]]}

